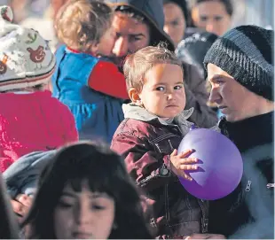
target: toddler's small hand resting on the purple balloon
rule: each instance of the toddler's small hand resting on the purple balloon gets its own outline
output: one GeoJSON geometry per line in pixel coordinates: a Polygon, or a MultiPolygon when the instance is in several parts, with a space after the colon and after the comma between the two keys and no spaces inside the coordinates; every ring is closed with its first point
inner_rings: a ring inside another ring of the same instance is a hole
{"type": "Polygon", "coordinates": [[[175,149],[170,155],[170,167],[171,171],[177,176],[183,177],[188,181],[192,181],[193,178],[185,174],[185,170],[196,170],[198,166],[193,165],[198,162],[196,158],[188,158],[193,150],[186,150],[177,155],[177,150],[175,149]]]}

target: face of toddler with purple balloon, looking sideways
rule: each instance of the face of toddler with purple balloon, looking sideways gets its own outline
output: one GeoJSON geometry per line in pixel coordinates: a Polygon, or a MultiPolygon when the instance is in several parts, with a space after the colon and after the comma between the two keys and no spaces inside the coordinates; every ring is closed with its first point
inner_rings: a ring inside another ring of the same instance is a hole
{"type": "Polygon", "coordinates": [[[139,94],[145,109],[161,118],[174,118],[185,109],[184,76],[180,66],[157,64],[145,74],[139,94]]]}

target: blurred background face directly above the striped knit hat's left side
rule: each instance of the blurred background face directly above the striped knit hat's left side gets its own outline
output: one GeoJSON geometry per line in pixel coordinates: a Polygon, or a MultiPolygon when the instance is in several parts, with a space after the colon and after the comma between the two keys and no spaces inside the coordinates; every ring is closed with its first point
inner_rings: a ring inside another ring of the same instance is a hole
{"type": "Polygon", "coordinates": [[[192,8],[193,24],[216,35],[231,27],[232,14],[231,0],[196,0],[192,8]]]}

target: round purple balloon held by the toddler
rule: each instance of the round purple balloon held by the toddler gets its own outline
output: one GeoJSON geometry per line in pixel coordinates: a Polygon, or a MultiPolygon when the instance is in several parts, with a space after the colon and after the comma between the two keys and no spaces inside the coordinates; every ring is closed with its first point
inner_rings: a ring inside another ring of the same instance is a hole
{"type": "Polygon", "coordinates": [[[193,181],[179,181],[194,197],[216,200],[237,188],[243,173],[240,151],[226,136],[206,128],[191,130],[180,143],[178,152],[193,149],[190,158],[199,159],[198,170],[185,171],[193,181]]]}

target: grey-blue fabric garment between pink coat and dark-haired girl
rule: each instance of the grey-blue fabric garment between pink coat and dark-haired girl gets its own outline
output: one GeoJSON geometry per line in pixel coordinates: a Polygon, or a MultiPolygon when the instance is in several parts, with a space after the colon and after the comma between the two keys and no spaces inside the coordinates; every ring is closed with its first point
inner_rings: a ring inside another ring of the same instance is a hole
{"type": "Polygon", "coordinates": [[[34,151],[22,156],[4,172],[3,178],[7,186],[7,191],[12,198],[18,194],[34,196],[36,183],[56,150],[34,151]]]}

